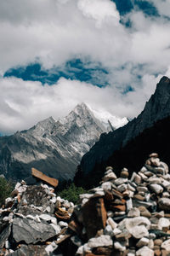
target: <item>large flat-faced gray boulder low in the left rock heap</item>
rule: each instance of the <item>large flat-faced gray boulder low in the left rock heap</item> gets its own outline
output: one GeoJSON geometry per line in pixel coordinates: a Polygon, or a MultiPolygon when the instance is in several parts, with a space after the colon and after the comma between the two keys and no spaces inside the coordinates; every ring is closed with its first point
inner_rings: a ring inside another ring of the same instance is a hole
{"type": "Polygon", "coordinates": [[[25,241],[35,244],[38,241],[47,241],[56,235],[54,228],[45,223],[37,223],[32,219],[14,218],[13,237],[16,242],[25,241]]]}

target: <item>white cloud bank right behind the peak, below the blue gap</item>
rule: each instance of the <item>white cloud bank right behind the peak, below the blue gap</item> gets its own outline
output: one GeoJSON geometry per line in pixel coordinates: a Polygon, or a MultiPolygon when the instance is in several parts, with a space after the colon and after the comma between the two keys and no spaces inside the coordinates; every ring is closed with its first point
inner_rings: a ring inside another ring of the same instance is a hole
{"type": "Polygon", "coordinates": [[[145,76],[143,88],[122,95],[115,87],[99,88],[77,80],[59,79],[57,84],[6,78],[0,80],[0,131],[25,130],[38,121],[53,116],[59,119],[78,103],[85,102],[98,112],[132,118],[144,108],[145,100],[156,87],[155,77],[145,76]],[[151,86],[150,86],[151,84],[151,86]]]}

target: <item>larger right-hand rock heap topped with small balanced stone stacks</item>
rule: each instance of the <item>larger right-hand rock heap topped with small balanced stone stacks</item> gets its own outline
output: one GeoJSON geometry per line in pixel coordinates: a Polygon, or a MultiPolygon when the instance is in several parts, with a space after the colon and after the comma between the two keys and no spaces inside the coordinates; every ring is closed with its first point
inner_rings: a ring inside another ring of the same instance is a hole
{"type": "Polygon", "coordinates": [[[107,167],[100,186],[80,195],[69,224],[81,243],[76,255],[170,255],[169,193],[168,167],[157,154],[130,179],[126,168],[117,178],[107,167]]]}

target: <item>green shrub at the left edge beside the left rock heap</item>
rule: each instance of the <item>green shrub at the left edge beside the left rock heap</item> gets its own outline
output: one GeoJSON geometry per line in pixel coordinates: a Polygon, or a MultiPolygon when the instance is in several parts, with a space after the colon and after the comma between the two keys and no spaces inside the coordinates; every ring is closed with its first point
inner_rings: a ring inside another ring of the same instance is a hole
{"type": "Polygon", "coordinates": [[[0,177],[0,207],[4,204],[5,199],[10,196],[13,189],[12,183],[8,182],[4,177],[0,177]]]}

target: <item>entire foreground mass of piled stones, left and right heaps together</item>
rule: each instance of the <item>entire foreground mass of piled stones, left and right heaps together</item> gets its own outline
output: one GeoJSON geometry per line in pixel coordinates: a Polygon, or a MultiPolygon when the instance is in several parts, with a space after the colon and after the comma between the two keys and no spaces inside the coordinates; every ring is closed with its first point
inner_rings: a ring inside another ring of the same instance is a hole
{"type": "Polygon", "coordinates": [[[17,183],[0,209],[0,255],[170,255],[170,174],[157,154],[131,178],[106,168],[99,187],[62,200],[46,184],[17,183]]]}

